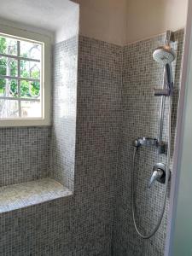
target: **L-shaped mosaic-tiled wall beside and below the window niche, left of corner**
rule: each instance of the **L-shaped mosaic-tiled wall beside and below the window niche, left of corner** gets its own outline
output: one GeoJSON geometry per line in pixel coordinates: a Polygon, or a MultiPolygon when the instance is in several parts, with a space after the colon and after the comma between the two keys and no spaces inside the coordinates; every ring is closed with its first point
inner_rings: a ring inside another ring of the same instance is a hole
{"type": "Polygon", "coordinates": [[[1,214],[0,255],[112,255],[121,56],[79,38],[74,195],[1,214]]]}

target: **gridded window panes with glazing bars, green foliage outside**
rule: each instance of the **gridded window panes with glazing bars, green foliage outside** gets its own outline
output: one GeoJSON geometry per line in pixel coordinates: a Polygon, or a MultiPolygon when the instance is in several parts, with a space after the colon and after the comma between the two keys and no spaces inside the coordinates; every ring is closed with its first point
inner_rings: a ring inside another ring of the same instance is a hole
{"type": "Polygon", "coordinates": [[[43,119],[43,43],[0,34],[0,119],[43,119]]]}

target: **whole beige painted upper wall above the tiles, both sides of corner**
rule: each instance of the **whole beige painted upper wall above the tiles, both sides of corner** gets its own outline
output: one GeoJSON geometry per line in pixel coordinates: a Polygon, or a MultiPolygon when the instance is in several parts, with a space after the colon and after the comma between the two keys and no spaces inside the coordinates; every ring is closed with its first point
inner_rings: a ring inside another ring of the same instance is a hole
{"type": "Polygon", "coordinates": [[[80,34],[124,45],[185,26],[188,0],[76,0],[80,34]]]}

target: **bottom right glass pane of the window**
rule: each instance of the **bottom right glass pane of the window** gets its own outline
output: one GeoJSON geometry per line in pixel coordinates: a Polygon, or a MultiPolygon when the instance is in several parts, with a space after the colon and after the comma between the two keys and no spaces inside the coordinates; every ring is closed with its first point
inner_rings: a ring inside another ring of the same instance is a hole
{"type": "Polygon", "coordinates": [[[41,103],[21,101],[21,117],[41,118],[41,103]]]}

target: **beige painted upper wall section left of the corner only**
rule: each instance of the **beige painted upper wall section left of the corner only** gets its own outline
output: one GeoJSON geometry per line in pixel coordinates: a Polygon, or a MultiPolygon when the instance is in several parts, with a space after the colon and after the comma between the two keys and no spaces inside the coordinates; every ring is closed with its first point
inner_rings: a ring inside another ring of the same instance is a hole
{"type": "Polygon", "coordinates": [[[127,0],[78,0],[80,34],[108,43],[122,45],[125,41],[127,0]]]}

